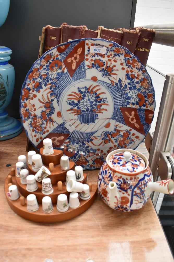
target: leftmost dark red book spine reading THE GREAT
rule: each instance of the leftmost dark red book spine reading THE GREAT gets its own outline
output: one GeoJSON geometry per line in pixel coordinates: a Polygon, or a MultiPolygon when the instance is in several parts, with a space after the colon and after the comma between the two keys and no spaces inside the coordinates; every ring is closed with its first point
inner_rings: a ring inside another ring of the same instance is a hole
{"type": "Polygon", "coordinates": [[[45,28],[45,42],[44,42],[44,53],[51,48],[60,44],[61,40],[61,28],[52,26],[46,26],[45,28]]]}

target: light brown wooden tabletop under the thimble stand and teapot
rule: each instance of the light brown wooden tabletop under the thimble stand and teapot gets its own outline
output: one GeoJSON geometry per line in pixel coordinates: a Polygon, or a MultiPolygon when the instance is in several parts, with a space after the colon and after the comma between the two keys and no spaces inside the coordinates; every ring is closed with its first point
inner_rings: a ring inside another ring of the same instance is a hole
{"type": "MultiPolygon", "coordinates": [[[[98,195],[80,216],[54,224],[34,223],[15,214],[5,198],[4,181],[21,154],[27,155],[24,131],[0,142],[0,261],[173,261],[151,199],[141,210],[122,213],[106,206],[98,195]],[[12,166],[6,167],[8,163],[12,166]]],[[[97,184],[98,170],[87,173],[88,182],[97,184]]]]}

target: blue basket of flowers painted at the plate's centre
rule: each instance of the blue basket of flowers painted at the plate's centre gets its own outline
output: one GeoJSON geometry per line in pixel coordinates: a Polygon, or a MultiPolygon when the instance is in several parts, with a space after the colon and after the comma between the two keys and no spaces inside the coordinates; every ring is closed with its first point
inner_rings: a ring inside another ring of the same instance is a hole
{"type": "Polygon", "coordinates": [[[84,124],[95,123],[98,118],[98,114],[103,114],[103,111],[107,111],[105,106],[109,106],[106,98],[101,97],[105,92],[101,92],[99,85],[88,88],[77,88],[78,93],[72,91],[68,94],[67,103],[71,106],[67,111],[71,111],[70,114],[74,114],[78,117],[79,121],[84,124]]]}

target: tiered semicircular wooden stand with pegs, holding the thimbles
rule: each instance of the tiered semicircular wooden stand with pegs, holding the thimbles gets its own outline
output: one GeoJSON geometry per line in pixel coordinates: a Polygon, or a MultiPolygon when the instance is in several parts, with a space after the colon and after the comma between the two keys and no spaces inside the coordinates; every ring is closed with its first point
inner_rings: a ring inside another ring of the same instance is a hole
{"type": "MultiPolygon", "coordinates": [[[[57,196],[59,194],[66,194],[68,197],[68,201],[69,201],[69,194],[70,194],[69,192],[67,192],[66,185],[65,185],[66,173],[68,170],[62,171],[60,168],[60,158],[63,155],[63,152],[61,150],[55,149],[52,155],[46,156],[43,154],[43,148],[41,148],[40,155],[42,157],[44,166],[46,166],[51,172],[51,175],[48,177],[51,179],[52,187],[54,189],[53,193],[49,195],[52,200],[53,211],[49,214],[45,214],[42,210],[42,199],[45,196],[41,192],[42,182],[37,182],[38,189],[36,191],[28,192],[26,190],[26,185],[21,184],[20,178],[16,177],[14,168],[12,168],[11,172],[8,174],[5,180],[5,184],[4,184],[5,195],[6,195],[7,202],[10,205],[11,209],[13,209],[13,211],[16,212],[16,214],[18,214],[21,217],[24,217],[25,219],[28,219],[34,222],[41,222],[41,223],[61,222],[64,220],[74,218],[82,214],[84,211],[86,211],[93,204],[97,196],[97,185],[92,184],[92,188],[90,191],[91,198],[89,198],[88,200],[82,200],[81,198],[79,198],[80,206],[78,208],[71,209],[69,207],[69,209],[66,212],[64,213],[59,212],[56,208],[57,196]],[[53,163],[53,164],[49,165],[50,163],[53,163]],[[17,185],[17,188],[20,193],[20,198],[15,201],[10,200],[7,196],[9,183],[17,185]],[[35,212],[30,212],[27,210],[26,197],[29,194],[34,194],[37,198],[39,209],[35,212]]],[[[74,170],[75,163],[74,162],[69,162],[69,163],[70,163],[69,170],[74,170]]],[[[30,165],[28,166],[28,171],[29,171],[29,174],[37,173],[32,170],[32,167],[30,165]]],[[[83,174],[83,176],[84,176],[84,179],[80,183],[86,184],[87,174],[83,174]]]]}

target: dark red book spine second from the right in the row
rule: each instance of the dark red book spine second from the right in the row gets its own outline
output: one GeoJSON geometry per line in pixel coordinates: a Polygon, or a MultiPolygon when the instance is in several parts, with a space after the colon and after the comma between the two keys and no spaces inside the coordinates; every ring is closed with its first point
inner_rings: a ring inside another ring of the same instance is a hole
{"type": "Polygon", "coordinates": [[[133,30],[129,31],[127,29],[122,29],[122,32],[123,35],[120,45],[128,48],[131,53],[134,53],[140,32],[133,30]]]}

